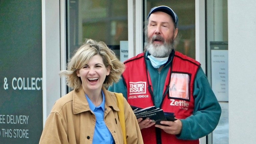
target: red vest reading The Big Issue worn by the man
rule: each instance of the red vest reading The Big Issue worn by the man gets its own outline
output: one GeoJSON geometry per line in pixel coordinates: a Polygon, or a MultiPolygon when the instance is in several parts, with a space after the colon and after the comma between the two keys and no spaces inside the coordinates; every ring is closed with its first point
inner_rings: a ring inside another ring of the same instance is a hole
{"type": "MultiPolygon", "coordinates": [[[[127,86],[127,101],[136,107],[153,106],[149,89],[153,91],[143,53],[124,62],[126,69],[123,79],[127,86]],[[148,78],[147,78],[148,75],[148,78]],[[148,79],[148,80],[147,80],[148,79]],[[151,86],[148,88],[148,86],[151,86]]],[[[179,52],[175,52],[172,64],[164,82],[163,101],[164,112],[173,112],[175,118],[184,119],[192,115],[194,109],[193,84],[200,63],[179,52]]],[[[154,126],[141,130],[146,144],[199,144],[199,140],[181,140],[154,126]],[[161,141],[159,141],[161,139],[161,141]]]]}

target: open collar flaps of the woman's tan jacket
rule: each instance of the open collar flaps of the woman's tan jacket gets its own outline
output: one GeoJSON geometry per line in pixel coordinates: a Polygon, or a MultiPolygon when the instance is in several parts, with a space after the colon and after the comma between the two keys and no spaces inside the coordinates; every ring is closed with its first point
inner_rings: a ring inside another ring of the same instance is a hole
{"type": "MultiPolygon", "coordinates": [[[[102,86],[102,91],[105,95],[105,108],[112,107],[112,109],[115,111],[119,111],[115,94],[106,90],[104,86],[102,86]]],[[[81,88],[78,92],[73,90],[73,93],[73,113],[78,114],[81,112],[90,111],[88,101],[85,97],[84,89],[81,88]]]]}

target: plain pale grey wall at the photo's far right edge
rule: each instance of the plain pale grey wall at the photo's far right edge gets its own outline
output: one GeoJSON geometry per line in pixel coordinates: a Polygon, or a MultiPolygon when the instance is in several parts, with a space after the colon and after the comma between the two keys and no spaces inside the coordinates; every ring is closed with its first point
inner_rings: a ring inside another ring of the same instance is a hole
{"type": "Polygon", "coordinates": [[[255,143],[255,6],[255,0],[228,0],[230,144],[255,143]]]}

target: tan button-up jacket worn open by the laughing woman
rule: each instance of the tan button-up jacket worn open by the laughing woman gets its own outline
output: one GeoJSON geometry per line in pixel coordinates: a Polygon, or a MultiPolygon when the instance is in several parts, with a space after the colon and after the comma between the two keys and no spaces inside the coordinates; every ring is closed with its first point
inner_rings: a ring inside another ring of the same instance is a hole
{"type": "MultiPolygon", "coordinates": [[[[123,144],[116,96],[104,87],[102,90],[105,95],[104,122],[115,144],[123,144]]],[[[127,144],[143,144],[137,119],[125,98],[124,113],[127,144]]],[[[46,119],[39,144],[91,144],[95,122],[95,115],[89,108],[84,90],[73,90],[54,104],[46,119]]]]}

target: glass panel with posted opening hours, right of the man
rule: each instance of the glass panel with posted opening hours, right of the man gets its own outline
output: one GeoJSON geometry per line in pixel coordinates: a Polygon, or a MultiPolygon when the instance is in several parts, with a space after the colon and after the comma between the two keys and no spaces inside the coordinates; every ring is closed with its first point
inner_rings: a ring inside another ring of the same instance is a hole
{"type": "Polygon", "coordinates": [[[228,144],[228,2],[206,0],[207,77],[222,112],[208,144],[228,144]]]}

